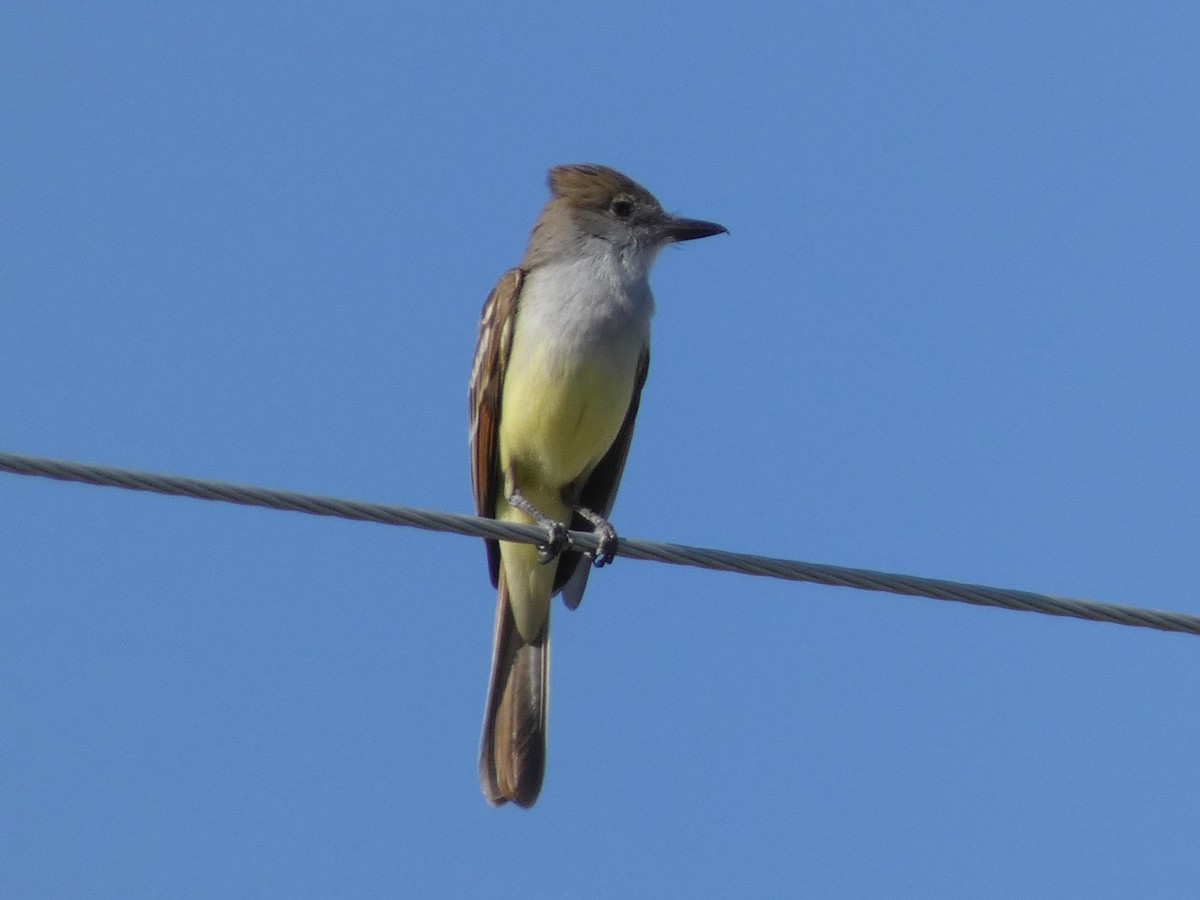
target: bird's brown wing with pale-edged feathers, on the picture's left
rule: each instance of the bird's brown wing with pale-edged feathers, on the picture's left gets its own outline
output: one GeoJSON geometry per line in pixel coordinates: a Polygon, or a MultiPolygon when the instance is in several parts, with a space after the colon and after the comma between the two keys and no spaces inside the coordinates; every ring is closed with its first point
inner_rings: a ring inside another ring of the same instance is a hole
{"type": "MultiPolygon", "coordinates": [[[[524,276],[523,269],[510,269],[487,295],[479,319],[479,342],[470,372],[470,482],[475,492],[475,512],[488,518],[496,516],[496,494],[504,484],[497,446],[500,397],[524,276]]],[[[500,571],[500,548],[493,540],[485,542],[494,586],[500,571]]]]}

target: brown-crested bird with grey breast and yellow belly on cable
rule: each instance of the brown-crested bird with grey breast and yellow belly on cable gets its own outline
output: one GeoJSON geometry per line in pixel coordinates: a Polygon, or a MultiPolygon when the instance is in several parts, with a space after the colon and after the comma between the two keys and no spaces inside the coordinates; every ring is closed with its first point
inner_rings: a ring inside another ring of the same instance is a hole
{"type": "Polygon", "coordinates": [[[576,608],[589,563],[612,562],[617,496],[650,360],[649,274],[662,247],[722,234],[665,212],[616,169],[557,166],[524,257],[484,304],[472,366],[470,462],[480,516],[546,530],[487,540],[497,590],[479,776],[493,806],[529,808],[546,767],[550,607],[576,608]],[[590,529],[594,553],[568,529],[590,529]]]}

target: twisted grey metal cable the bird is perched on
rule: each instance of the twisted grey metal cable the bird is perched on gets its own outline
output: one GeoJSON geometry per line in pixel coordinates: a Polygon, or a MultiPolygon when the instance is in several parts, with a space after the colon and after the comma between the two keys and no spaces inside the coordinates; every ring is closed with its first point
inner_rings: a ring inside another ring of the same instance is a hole
{"type": "MultiPolygon", "coordinates": [[[[538,544],[545,532],[533,526],[497,522],[492,518],[462,516],[454,512],[412,509],[384,503],[364,503],[319,494],[276,491],[250,485],[233,485],[224,481],[206,481],[180,475],[162,475],[152,472],[136,472],[108,466],[90,466],[78,462],[44,460],[35,456],[0,452],[0,472],[17,475],[40,475],[60,481],[80,481],[104,487],[124,487],[131,491],[150,491],[175,497],[194,497],[203,500],[223,500],[245,506],[308,512],[316,516],[335,516],[361,522],[379,522],[390,526],[410,526],[431,532],[450,532],[474,538],[496,538],[523,544],[538,544]]],[[[571,542],[582,550],[595,550],[596,539],[588,532],[571,532],[571,542]]],[[[618,556],[631,559],[650,559],[673,565],[692,565],[701,569],[758,575],[787,581],[808,581],[834,587],[881,590],[890,594],[928,596],[935,600],[956,600],[977,606],[998,606],[1004,610],[1040,612],[1048,616],[1069,616],[1093,622],[1111,622],[1117,625],[1153,628],[1160,631],[1178,631],[1200,635],[1200,616],[1178,612],[1160,612],[1136,606],[1103,604],[1094,600],[1076,600],[1063,596],[1037,594],[1028,590],[991,588],[982,584],[964,584],[941,578],[923,578],[914,575],[895,575],[869,569],[847,569],[820,563],[802,563],[794,559],[733,553],[726,550],[688,547],[679,544],[658,544],[620,539],[618,556]]]]}

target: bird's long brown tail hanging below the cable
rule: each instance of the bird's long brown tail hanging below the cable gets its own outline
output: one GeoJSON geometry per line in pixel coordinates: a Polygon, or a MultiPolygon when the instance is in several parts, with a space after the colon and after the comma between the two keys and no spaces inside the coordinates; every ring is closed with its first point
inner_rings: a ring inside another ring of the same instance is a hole
{"type": "Polygon", "coordinates": [[[493,806],[512,800],[532,806],[546,772],[546,710],[550,703],[550,617],[538,640],[526,643],[512,618],[500,565],[479,781],[493,806]]]}

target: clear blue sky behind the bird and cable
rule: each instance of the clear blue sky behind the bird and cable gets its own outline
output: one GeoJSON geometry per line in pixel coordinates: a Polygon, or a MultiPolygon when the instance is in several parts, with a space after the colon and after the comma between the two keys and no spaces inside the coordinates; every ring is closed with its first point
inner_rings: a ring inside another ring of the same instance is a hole
{"type": "MultiPolygon", "coordinates": [[[[470,511],[545,170],[664,253],[629,536],[1200,612],[1188,4],[10,4],[0,449],[470,511]]],[[[1200,641],[0,475],[0,894],[1184,896],[1200,641]]]]}

